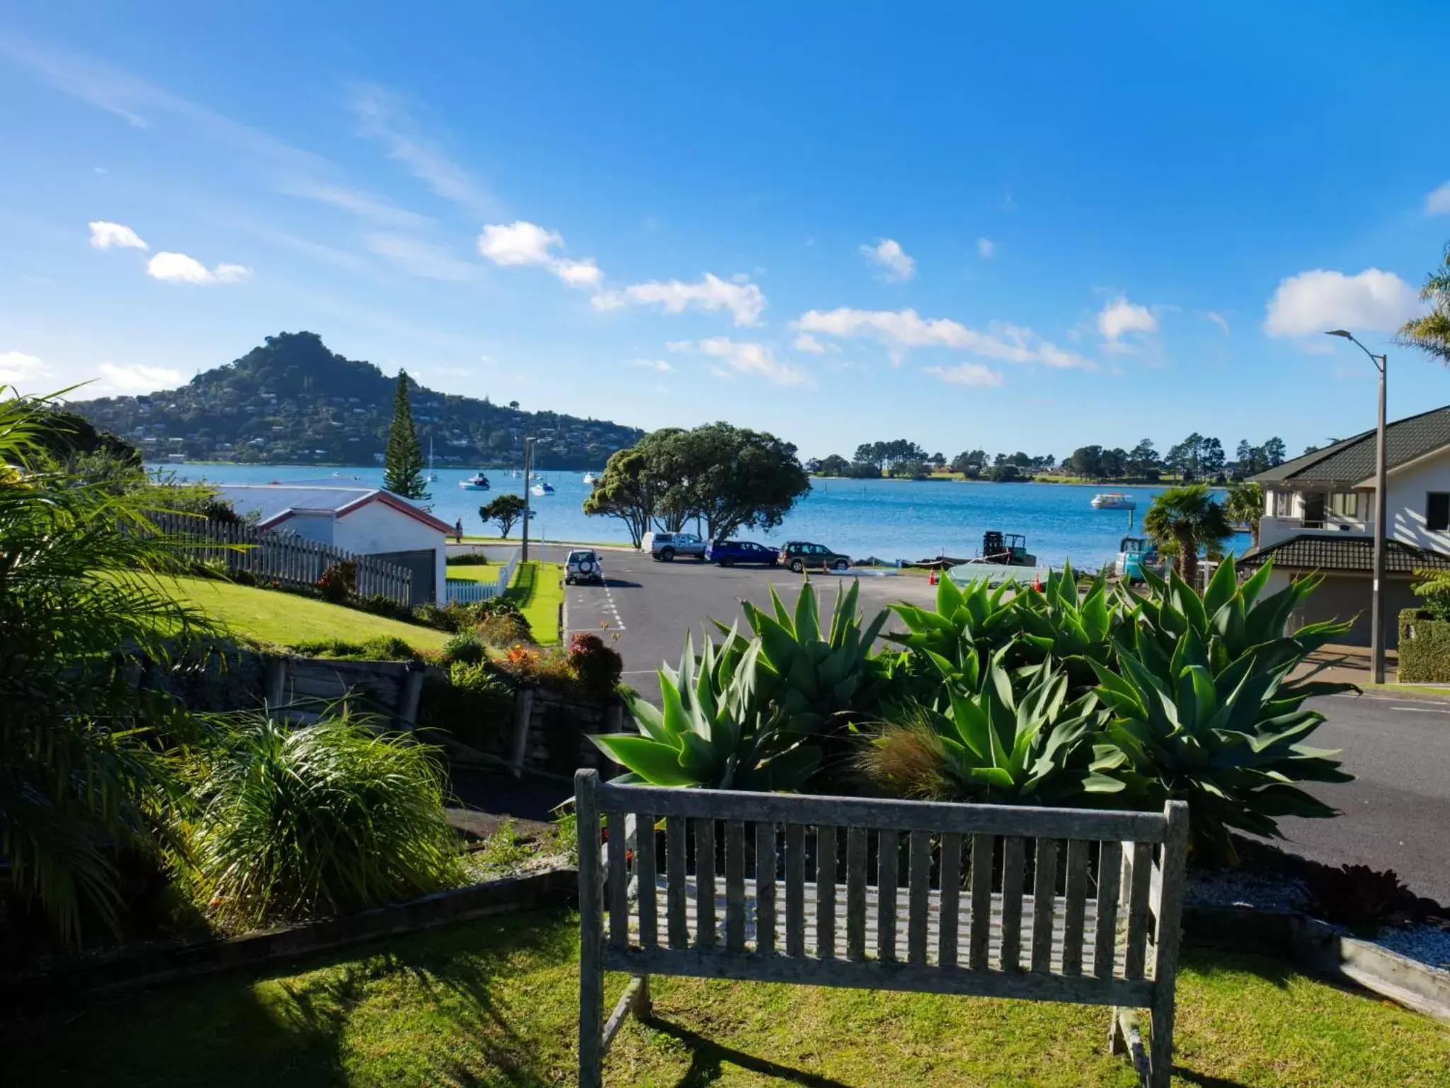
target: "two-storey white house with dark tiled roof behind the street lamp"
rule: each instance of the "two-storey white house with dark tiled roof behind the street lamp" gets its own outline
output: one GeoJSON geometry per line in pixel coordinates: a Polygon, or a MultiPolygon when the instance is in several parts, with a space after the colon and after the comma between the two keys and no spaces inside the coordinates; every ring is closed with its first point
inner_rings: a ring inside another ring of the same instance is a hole
{"type": "MultiPolygon", "coordinates": [[[[1393,648],[1401,609],[1420,603],[1412,572],[1450,569],[1450,406],[1389,424],[1385,456],[1385,646],[1393,648]]],[[[1356,617],[1346,641],[1360,646],[1370,634],[1375,470],[1375,431],[1366,431],[1254,476],[1264,512],[1259,547],[1243,559],[1273,560],[1269,592],[1322,573],[1298,621],[1356,617]]]]}

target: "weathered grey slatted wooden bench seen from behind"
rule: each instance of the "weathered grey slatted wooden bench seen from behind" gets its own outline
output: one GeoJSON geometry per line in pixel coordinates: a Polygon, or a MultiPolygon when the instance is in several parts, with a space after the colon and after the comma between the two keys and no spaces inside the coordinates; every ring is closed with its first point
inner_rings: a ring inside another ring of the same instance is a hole
{"type": "Polygon", "coordinates": [[[1180,801],[957,805],[612,786],[594,770],[574,789],[586,1088],[625,1017],[650,1014],[650,975],[1109,1005],[1112,1050],[1169,1084],[1180,801]],[[606,970],[631,975],[608,1021],[606,970]],[[1147,1053],[1131,1008],[1151,1011],[1147,1053]]]}

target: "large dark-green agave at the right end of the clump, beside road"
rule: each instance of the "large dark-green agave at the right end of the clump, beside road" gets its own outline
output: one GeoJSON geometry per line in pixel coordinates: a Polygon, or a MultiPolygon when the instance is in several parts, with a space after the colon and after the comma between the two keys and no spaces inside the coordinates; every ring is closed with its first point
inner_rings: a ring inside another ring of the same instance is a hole
{"type": "Polygon", "coordinates": [[[1267,577],[1266,564],[1240,586],[1225,560],[1202,598],[1177,576],[1154,579],[1118,641],[1118,672],[1093,664],[1096,693],[1112,709],[1093,769],[1148,805],[1186,799],[1195,852],[1230,863],[1230,828],[1277,836],[1277,817],[1331,817],[1335,809],[1295,783],[1353,778],[1335,751],[1305,743],[1324,715],[1302,705],[1353,685],[1289,679],[1348,624],[1286,634],[1314,580],[1259,601],[1267,577]]]}

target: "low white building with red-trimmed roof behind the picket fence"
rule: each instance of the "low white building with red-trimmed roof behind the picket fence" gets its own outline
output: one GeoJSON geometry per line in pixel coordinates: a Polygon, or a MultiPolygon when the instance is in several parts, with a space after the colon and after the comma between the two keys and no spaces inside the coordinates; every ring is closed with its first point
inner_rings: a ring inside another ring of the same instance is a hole
{"type": "Polygon", "coordinates": [[[452,527],[407,499],[380,487],[328,483],[223,483],[218,492],[238,514],[255,512],[260,528],[405,567],[415,605],[442,596],[452,527]]]}

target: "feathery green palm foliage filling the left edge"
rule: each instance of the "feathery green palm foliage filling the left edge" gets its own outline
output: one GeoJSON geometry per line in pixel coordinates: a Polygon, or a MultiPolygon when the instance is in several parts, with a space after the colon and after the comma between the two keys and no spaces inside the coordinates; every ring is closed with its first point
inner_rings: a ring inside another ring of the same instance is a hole
{"type": "Polygon", "coordinates": [[[0,386],[0,897],[74,941],[116,928],[117,859],[157,856],[190,718],[145,677],[206,621],[167,592],[155,489],[67,471],[55,426],[0,386]]]}

